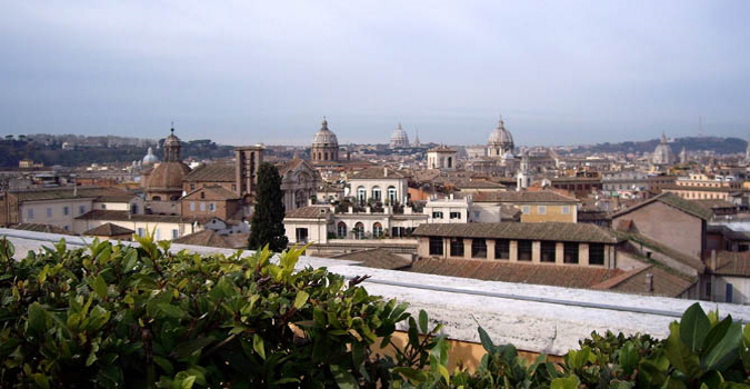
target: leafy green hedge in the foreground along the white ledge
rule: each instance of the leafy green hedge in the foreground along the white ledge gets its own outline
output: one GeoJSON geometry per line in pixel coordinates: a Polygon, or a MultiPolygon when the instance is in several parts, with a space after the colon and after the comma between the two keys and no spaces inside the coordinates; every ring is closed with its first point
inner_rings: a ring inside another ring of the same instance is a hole
{"type": "Polygon", "coordinates": [[[17,260],[0,239],[0,388],[750,388],[750,329],[699,305],[666,340],[592,333],[562,363],[526,363],[479,328],[480,368],[449,371],[424,311],[294,271],[301,250],[273,261],[138,240],[17,260]],[[393,357],[374,351],[389,345],[393,357]]]}

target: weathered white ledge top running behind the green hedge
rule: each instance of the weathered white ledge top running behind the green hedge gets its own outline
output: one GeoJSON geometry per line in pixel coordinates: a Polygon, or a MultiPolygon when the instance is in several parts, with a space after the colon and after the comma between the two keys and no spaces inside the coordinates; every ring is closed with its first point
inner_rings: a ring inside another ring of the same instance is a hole
{"type": "MultiPolygon", "coordinates": [[[[64,238],[69,245],[82,245],[90,238],[0,229],[16,246],[16,257],[27,250],[64,238]]],[[[172,245],[210,255],[236,251],[198,246],[172,245]]],[[[677,320],[694,300],[626,295],[588,289],[570,289],[527,283],[481,281],[466,278],[372,269],[353,261],[301,257],[298,268],[327,267],[331,272],[352,278],[369,275],[362,286],[371,295],[409,302],[412,313],[424,309],[431,321],[441,322],[451,339],[479,342],[477,325],[482,326],[496,345],[513,343],[521,350],[564,355],[592,331],[600,333],[650,333],[663,338],[669,323],[677,320]]],[[[704,310],[719,309],[744,322],[750,307],[701,301],[704,310]]]]}

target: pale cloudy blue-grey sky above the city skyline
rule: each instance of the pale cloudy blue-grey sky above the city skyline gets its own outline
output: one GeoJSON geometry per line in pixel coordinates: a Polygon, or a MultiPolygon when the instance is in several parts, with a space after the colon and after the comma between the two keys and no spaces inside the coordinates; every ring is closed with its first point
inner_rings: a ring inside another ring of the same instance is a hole
{"type": "Polygon", "coordinates": [[[2,1],[0,133],[750,136],[750,1],[2,1]],[[699,117],[702,128],[699,129],[699,117]]]}

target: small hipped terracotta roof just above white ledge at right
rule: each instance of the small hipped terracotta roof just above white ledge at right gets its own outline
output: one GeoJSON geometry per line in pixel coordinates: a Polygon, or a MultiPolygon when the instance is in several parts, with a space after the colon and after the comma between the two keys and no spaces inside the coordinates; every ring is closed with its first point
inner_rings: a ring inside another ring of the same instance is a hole
{"type": "Polygon", "coordinates": [[[647,266],[633,269],[607,281],[593,286],[593,289],[611,290],[636,295],[679,297],[698,281],[694,277],[683,277],[660,267],[647,266]],[[648,290],[647,275],[651,275],[653,291],[648,290]]]}

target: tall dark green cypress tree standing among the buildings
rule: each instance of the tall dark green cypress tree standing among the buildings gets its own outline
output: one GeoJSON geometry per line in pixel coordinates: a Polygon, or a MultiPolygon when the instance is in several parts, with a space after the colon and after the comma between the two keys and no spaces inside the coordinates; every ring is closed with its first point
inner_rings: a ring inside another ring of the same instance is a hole
{"type": "Polygon", "coordinates": [[[256,210],[250,225],[248,248],[262,249],[268,245],[271,251],[282,251],[287,248],[283,228],[283,193],[281,192],[281,177],[272,163],[263,162],[258,169],[258,190],[256,192],[256,210]]]}

